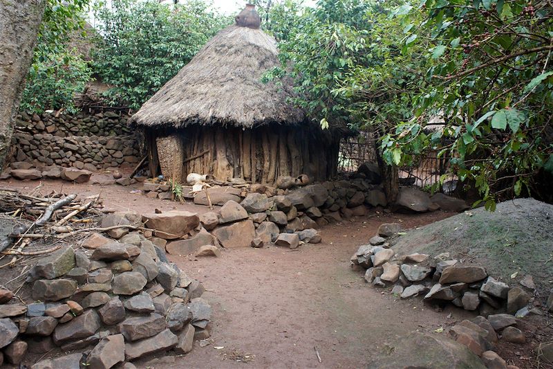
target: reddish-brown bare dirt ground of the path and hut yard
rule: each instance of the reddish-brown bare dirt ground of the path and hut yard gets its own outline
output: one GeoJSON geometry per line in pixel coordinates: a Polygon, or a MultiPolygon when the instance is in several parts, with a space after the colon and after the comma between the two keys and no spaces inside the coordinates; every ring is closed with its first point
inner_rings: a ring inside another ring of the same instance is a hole
{"type": "MultiPolygon", "coordinates": [[[[37,184],[0,181],[0,186],[11,188],[31,189],[37,184]]],[[[140,185],[47,181],[42,186],[43,193],[59,191],[61,186],[64,192],[86,196],[102,191],[104,205],[118,210],[208,210],[131,193],[140,185]]],[[[363,273],[351,269],[349,259],[382,223],[401,222],[404,228],[415,228],[451,215],[373,212],[353,222],[326,226],[321,230],[321,244],[293,251],[265,246],[223,250],[221,258],[169,256],[208,290],[203,297],[214,312],[212,343],[202,348],[196,342],[185,357],[159,354],[135,364],[139,368],[364,368],[384,343],[397,336],[440,327],[447,331],[449,325],[474,314],[452,305],[439,311],[420,298],[400,300],[388,289],[369,287],[363,273]]],[[[512,357],[518,356],[513,353],[512,357]]],[[[515,363],[529,367],[520,360],[515,363]]]]}

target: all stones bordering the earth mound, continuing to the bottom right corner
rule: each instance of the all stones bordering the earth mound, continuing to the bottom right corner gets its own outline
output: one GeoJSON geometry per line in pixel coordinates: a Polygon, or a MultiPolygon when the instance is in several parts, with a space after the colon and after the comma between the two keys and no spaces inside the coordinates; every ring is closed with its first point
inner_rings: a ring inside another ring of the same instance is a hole
{"type": "MultiPolygon", "coordinates": [[[[365,270],[364,279],[376,287],[390,287],[400,298],[424,296],[431,303],[452,303],[469,311],[478,311],[472,321],[462,321],[449,331],[451,339],[466,345],[478,355],[486,368],[510,368],[494,352],[499,340],[523,344],[525,334],[516,327],[519,318],[529,314],[543,315],[535,301],[536,286],[532,276],[518,286],[488,276],[485,268],[465,264],[442,253],[435,258],[413,253],[397,255],[391,249],[391,237],[401,233],[397,223],[382,224],[377,235],[351,257],[355,267],[365,270]],[[485,318],[487,317],[487,318],[485,318]]],[[[553,289],[545,308],[553,312],[553,289]]],[[[536,348],[545,362],[553,363],[553,343],[536,348]]]]}

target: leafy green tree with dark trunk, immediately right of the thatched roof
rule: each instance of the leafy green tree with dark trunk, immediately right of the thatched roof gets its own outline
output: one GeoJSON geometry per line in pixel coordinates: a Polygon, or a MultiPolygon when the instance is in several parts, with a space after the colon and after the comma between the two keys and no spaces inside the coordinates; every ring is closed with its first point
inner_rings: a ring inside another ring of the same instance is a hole
{"type": "MultiPolygon", "coordinates": [[[[280,44],[286,68],[270,78],[289,75],[296,81],[294,102],[329,129],[370,129],[384,136],[399,120],[412,116],[411,99],[425,82],[419,69],[423,46],[402,55],[407,37],[391,17],[395,3],[386,6],[362,0],[321,0],[306,10],[292,37],[280,44]]],[[[375,145],[376,147],[377,145],[375,145]]],[[[377,147],[386,195],[397,195],[397,152],[377,147]],[[388,165],[384,159],[388,157],[388,165]]],[[[399,152],[401,154],[401,152],[399,152]]],[[[401,155],[400,155],[401,156],[401,155]]]]}

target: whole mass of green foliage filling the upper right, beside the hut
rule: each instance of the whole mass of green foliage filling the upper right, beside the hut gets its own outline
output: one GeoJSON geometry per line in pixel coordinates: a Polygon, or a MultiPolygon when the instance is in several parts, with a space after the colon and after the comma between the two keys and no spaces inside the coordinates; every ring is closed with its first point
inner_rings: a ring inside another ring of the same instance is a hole
{"type": "Polygon", "coordinates": [[[389,164],[437,150],[490,209],[553,174],[546,0],[321,0],[300,18],[280,46],[288,70],[266,78],[292,76],[321,126],[373,129],[389,164]]]}

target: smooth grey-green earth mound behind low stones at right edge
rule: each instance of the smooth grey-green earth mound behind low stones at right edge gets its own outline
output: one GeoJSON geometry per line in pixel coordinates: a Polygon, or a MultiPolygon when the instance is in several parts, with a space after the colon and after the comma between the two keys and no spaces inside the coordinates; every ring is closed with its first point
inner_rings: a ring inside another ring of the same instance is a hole
{"type": "Polygon", "coordinates": [[[451,258],[480,264],[489,275],[507,282],[531,275],[538,290],[548,292],[553,287],[552,217],[551,204],[535,199],[505,201],[495,212],[468,210],[416,228],[400,236],[393,249],[400,255],[447,252],[451,258]]]}

